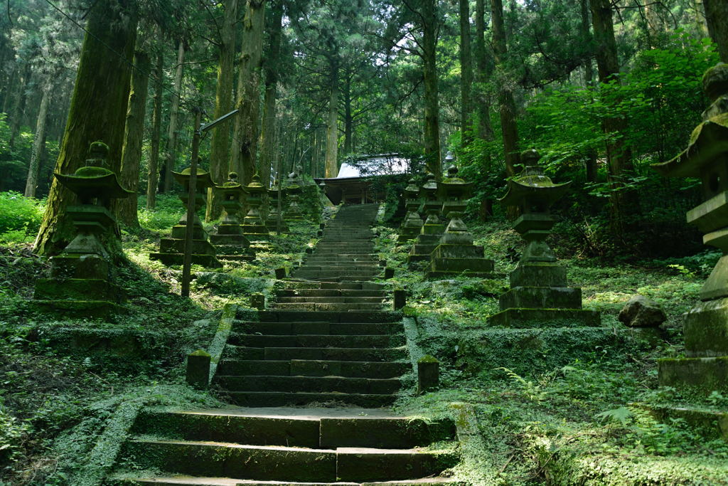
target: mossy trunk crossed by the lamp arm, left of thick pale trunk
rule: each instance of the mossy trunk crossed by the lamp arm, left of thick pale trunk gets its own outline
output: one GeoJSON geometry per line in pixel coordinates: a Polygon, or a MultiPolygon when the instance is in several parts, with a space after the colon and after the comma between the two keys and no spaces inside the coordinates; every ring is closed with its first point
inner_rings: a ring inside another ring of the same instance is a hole
{"type": "MultiPolygon", "coordinates": [[[[220,29],[220,59],[218,60],[218,84],[215,89],[215,114],[213,119],[222,117],[232,109],[232,84],[235,70],[235,22],[237,22],[238,0],[226,0],[225,18],[220,29]]],[[[210,177],[215,184],[227,180],[230,155],[230,125],[224,122],[213,128],[210,141],[210,177]]],[[[205,220],[218,219],[222,206],[213,187],[207,189],[207,208],[205,220]]]]}

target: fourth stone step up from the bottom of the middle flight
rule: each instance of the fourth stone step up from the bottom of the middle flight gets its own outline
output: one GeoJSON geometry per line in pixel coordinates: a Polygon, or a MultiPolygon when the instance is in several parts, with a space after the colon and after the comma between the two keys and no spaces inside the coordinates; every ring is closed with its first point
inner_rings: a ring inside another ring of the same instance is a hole
{"type": "Polygon", "coordinates": [[[225,359],[290,361],[404,361],[406,348],[246,348],[226,345],[225,359]]]}

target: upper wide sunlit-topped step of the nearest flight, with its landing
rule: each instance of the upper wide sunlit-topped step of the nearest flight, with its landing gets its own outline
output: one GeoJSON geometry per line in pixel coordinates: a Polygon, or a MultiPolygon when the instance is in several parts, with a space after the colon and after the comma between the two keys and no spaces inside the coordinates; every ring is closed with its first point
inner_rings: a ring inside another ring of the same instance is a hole
{"type": "Polygon", "coordinates": [[[130,433],[139,436],[149,430],[157,439],[313,449],[411,449],[455,436],[448,420],[428,423],[381,409],[144,409],[130,433]]]}

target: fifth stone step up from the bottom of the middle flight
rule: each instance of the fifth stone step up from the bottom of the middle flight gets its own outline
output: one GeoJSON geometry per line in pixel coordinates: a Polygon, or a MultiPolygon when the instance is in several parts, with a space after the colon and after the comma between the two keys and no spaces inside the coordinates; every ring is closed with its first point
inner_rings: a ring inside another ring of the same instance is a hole
{"type": "Polygon", "coordinates": [[[397,348],[404,334],[230,334],[228,342],[248,348],[397,348]]]}

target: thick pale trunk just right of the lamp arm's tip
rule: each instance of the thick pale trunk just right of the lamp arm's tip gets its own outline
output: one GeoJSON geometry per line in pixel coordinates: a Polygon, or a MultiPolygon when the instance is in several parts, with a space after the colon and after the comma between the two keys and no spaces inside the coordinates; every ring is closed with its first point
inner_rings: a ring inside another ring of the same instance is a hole
{"type": "Polygon", "coordinates": [[[240,174],[242,184],[249,184],[256,173],[260,104],[258,89],[261,83],[265,0],[248,0],[246,7],[242,21],[242,49],[235,103],[240,113],[235,119],[235,136],[232,141],[232,167],[240,174]]]}

